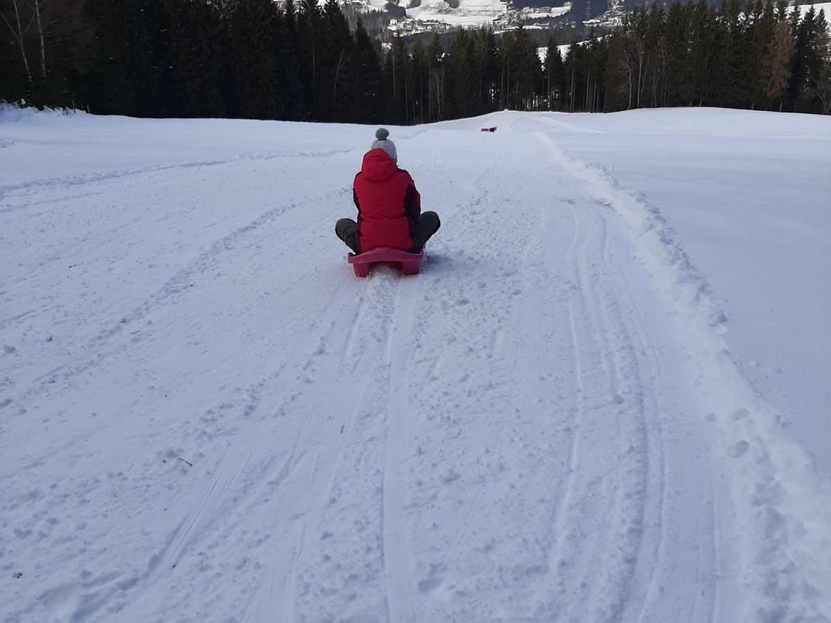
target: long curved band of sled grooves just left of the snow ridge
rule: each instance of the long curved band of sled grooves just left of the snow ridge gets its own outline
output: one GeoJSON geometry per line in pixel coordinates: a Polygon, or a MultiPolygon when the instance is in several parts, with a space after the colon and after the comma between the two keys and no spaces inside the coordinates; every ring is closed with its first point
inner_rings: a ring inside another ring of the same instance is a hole
{"type": "MultiPolygon", "coordinates": [[[[578,188],[583,186],[582,180],[573,179],[578,182],[578,188]]],[[[579,577],[583,579],[572,581],[572,587],[564,586],[562,581],[559,584],[562,602],[572,609],[557,611],[557,616],[566,620],[585,616],[588,614],[585,604],[592,603],[593,620],[651,621],[654,617],[649,614],[651,607],[661,597],[656,586],[657,570],[668,562],[667,522],[675,521],[667,516],[666,508],[666,439],[663,432],[666,419],[662,413],[666,405],[662,405],[661,400],[661,373],[647,330],[632,312],[638,307],[632,290],[623,273],[613,268],[612,258],[620,258],[620,253],[626,251],[622,241],[618,241],[617,251],[611,255],[607,218],[612,213],[608,206],[571,199],[564,199],[563,204],[568,205],[574,222],[574,238],[568,256],[576,292],[568,303],[568,317],[574,344],[578,398],[577,434],[569,453],[572,467],[563,499],[568,519],[560,518],[557,532],[563,534],[578,526],[585,529],[590,517],[611,517],[605,546],[600,541],[600,547],[615,553],[602,565],[597,564],[599,560],[592,562],[599,552],[583,556],[585,566],[579,571],[579,577]],[[628,312],[624,314],[622,308],[628,312]],[[583,323],[581,327],[575,322],[580,318],[588,324],[583,323]],[[598,389],[601,390],[599,394],[598,389]],[[607,415],[602,415],[604,413],[607,415]],[[589,508],[581,510],[578,500],[592,498],[593,491],[602,490],[597,483],[607,480],[610,473],[608,467],[601,467],[602,457],[589,458],[591,449],[613,445],[611,439],[597,443],[586,434],[593,428],[590,421],[598,416],[606,422],[613,419],[617,424],[615,436],[619,439],[619,454],[613,469],[619,473],[617,478],[625,479],[612,481],[617,490],[607,489],[605,497],[614,499],[614,503],[605,513],[593,515],[589,508]],[[593,592],[575,591],[574,586],[590,585],[591,578],[597,577],[597,568],[603,568],[604,572],[593,592]],[[607,595],[605,602],[604,594],[607,595]],[[575,606],[578,610],[573,610],[575,606]]],[[[715,508],[711,492],[708,504],[715,508]]],[[[711,522],[703,527],[713,537],[706,555],[698,558],[698,564],[703,563],[705,569],[715,564],[714,513],[715,510],[710,514],[711,522]]],[[[601,530],[602,527],[597,525],[594,529],[601,530]]],[[[593,532],[593,529],[586,532],[593,532]]],[[[567,537],[558,539],[554,552],[551,567],[568,568],[569,573],[564,576],[571,579],[573,564],[568,562],[567,537]]],[[[717,604],[712,578],[701,596],[703,602],[699,596],[692,596],[693,601],[687,607],[696,613],[696,620],[712,620],[717,604]]]]}

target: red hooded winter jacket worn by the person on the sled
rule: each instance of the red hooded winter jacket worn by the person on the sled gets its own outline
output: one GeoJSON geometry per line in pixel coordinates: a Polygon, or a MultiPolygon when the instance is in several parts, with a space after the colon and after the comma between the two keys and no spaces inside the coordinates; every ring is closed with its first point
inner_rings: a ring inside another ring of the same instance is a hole
{"type": "Polygon", "coordinates": [[[416,250],[421,196],[410,174],[399,169],[386,151],[366,152],[352,184],[352,197],[358,208],[361,253],[378,247],[416,250]]]}

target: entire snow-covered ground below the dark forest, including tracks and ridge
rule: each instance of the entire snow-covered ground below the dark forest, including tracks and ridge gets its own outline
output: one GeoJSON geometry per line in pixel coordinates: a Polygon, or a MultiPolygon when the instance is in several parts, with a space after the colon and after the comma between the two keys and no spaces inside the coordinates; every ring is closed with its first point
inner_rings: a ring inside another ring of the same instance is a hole
{"type": "Polygon", "coordinates": [[[0,620],[831,618],[829,119],[372,130],[2,117],[0,620]]]}

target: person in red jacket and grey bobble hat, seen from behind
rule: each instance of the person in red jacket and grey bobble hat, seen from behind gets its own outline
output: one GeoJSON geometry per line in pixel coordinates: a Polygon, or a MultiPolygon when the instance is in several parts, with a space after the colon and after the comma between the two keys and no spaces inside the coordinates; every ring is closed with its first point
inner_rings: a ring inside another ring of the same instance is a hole
{"type": "Polygon", "coordinates": [[[421,213],[421,196],[410,174],[398,168],[389,135],[385,128],[375,133],[352,184],[357,222],[341,218],[335,225],[337,237],[356,254],[379,247],[419,253],[441,226],[435,212],[421,213]]]}

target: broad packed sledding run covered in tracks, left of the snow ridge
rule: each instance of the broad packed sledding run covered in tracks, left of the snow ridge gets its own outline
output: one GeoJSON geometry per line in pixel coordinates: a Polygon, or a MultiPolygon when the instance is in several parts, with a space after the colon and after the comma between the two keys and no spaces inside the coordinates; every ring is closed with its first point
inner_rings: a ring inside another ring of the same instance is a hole
{"type": "MultiPolygon", "coordinates": [[[[739,520],[727,510],[729,459],[697,397],[706,375],[691,380],[694,351],[670,339],[614,198],[558,151],[552,135],[573,127],[514,115],[484,139],[444,142],[454,130],[442,126],[407,137],[399,150],[423,197],[444,202],[425,204],[443,226],[418,277],[352,276],[331,232],[350,213],[348,179],[326,172],[354,166],[360,150],[303,154],[314,189],[212,214],[193,243],[160,248],[135,292],[82,318],[60,358],[10,368],[0,398],[22,410],[8,417],[89,420],[47,451],[71,473],[107,466],[61,477],[16,443],[44,424],[27,422],[7,439],[25,466],[3,474],[11,490],[52,479],[71,512],[110,504],[122,524],[81,545],[57,520],[47,527],[45,485],[4,498],[7,517],[36,518],[16,523],[21,542],[61,571],[32,570],[3,621],[740,620],[739,581],[720,581],[736,577],[739,520]],[[482,140],[484,162],[465,160],[482,140]],[[519,155],[522,179],[500,175],[519,155]],[[87,405],[100,375],[126,389],[87,405]],[[112,456],[112,434],[143,448],[129,465],[112,456]]],[[[194,231],[214,189],[254,184],[251,199],[289,164],[256,155],[7,184],[0,212],[41,223],[83,199],[94,216],[150,188],[182,202],[163,220],[194,231]],[[176,190],[187,175],[203,184],[190,201],[176,190]]],[[[124,239],[152,218],[122,223],[124,239]]],[[[4,312],[0,329],[77,316],[86,302],[49,292],[68,258],[84,262],[72,278],[91,297],[86,271],[116,270],[112,292],[135,277],[123,259],[133,251],[105,242],[111,224],[90,222],[88,237],[32,254],[3,284],[9,301],[6,288],[43,292],[4,312]]],[[[745,564],[768,565],[774,586],[786,545],[745,564]]],[[[7,537],[3,547],[21,551],[7,537]]]]}

